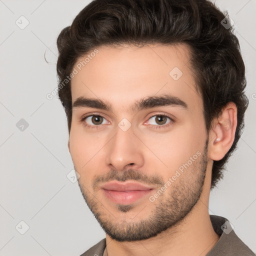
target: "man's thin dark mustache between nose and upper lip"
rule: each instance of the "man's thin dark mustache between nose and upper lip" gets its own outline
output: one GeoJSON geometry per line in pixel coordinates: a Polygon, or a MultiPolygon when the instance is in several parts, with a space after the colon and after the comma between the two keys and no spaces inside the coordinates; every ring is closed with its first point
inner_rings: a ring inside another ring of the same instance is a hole
{"type": "Polygon", "coordinates": [[[147,176],[141,173],[139,170],[128,169],[124,171],[116,171],[111,169],[107,174],[102,174],[95,177],[92,180],[92,187],[95,188],[99,183],[107,182],[111,180],[126,181],[135,180],[146,184],[164,185],[163,179],[159,175],[147,176]]]}

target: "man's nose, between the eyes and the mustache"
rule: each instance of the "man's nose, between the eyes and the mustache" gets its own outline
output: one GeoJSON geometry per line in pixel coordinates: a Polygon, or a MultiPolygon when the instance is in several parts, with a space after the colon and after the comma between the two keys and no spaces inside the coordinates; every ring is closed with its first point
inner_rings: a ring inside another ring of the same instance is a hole
{"type": "Polygon", "coordinates": [[[132,127],[126,131],[116,128],[115,135],[106,146],[106,164],[117,171],[131,166],[140,168],[144,164],[143,144],[132,127]]]}

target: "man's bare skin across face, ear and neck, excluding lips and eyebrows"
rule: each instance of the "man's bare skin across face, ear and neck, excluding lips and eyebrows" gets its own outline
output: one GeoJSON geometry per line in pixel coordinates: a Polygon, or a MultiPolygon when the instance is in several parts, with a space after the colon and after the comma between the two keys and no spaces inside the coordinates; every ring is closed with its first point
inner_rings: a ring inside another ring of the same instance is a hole
{"type": "MultiPolygon", "coordinates": [[[[101,46],[98,50],[72,78],[72,102],[80,96],[99,98],[109,102],[112,111],[73,108],[68,148],[79,173],[83,197],[106,231],[108,256],[206,255],[219,238],[208,213],[212,163],[221,159],[233,143],[235,104],[229,102],[223,108],[207,134],[187,45],[101,46]],[[178,80],[169,75],[175,66],[183,73],[178,80]],[[136,100],[162,94],[179,97],[187,109],[172,105],[131,111],[136,100]],[[92,113],[103,116],[103,124],[96,128],[85,126],[85,122],[96,126],[91,117],[81,121],[92,113]],[[170,115],[174,122],[168,125],[167,118],[166,124],[159,125],[155,115],[160,114],[170,115]],[[123,118],[131,124],[126,131],[118,126],[123,118]],[[217,137],[220,140],[215,142],[217,137]],[[150,184],[154,188],[151,194],[129,206],[106,198],[99,189],[102,182],[93,186],[99,177],[109,181],[107,174],[112,174],[113,179],[142,179],[144,184],[149,184],[149,177],[158,177],[165,183],[197,151],[200,156],[153,202],[148,197],[155,194],[160,184],[150,184]],[[160,217],[162,222],[156,223],[160,217]],[[147,225],[143,226],[142,221],[148,221],[147,225]],[[148,223],[152,224],[151,230],[169,226],[145,239],[131,241],[137,229],[148,234],[148,223]],[[127,240],[118,241],[114,235],[127,240]]],[[[77,59],[77,63],[81,60],[77,59]]]]}

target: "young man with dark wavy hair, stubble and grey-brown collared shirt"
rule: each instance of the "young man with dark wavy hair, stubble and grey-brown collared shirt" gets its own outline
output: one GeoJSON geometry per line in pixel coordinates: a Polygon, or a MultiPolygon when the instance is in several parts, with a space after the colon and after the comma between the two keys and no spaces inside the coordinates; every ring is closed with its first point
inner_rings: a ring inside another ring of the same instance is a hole
{"type": "Polygon", "coordinates": [[[207,0],[94,0],[59,34],[68,148],[106,233],[82,255],[254,255],[208,213],[248,104],[222,20],[207,0]]]}

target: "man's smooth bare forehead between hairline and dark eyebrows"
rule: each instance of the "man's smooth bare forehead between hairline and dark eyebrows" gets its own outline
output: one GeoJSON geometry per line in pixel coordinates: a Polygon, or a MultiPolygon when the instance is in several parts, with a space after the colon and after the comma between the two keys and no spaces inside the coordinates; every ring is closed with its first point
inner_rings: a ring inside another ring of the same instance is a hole
{"type": "Polygon", "coordinates": [[[96,54],[88,52],[78,58],[74,65],[77,74],[71,80],[72,102],[84,96],[111,102],[113,108],[128,108],[141,97],[171,94],[188,107],[201,107],[186,44],[123,44],[96,50],[96,54]]]}

